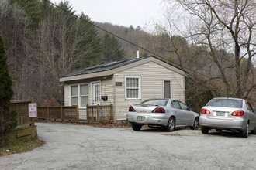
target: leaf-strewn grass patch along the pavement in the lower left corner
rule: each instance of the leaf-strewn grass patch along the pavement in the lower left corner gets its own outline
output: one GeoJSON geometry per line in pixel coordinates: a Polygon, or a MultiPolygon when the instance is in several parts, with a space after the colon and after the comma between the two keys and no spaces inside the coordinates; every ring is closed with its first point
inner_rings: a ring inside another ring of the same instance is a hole
{"type": "Polygon", "coordinates": [[[45,141],[38,140],[38,139],[33,141],[27,141],[27,142],[19,142],[15,145],[9,145],[9,146],[0,148],[0,156],[32,151],[34,148],[38,148],[43,144],[45,144],[45,141]]]}

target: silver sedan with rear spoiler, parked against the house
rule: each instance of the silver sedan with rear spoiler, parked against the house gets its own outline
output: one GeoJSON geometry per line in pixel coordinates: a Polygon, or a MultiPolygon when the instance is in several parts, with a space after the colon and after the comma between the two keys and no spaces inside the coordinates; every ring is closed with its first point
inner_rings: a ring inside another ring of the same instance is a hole
{"type": "Polygon", "coordinates": [[[180,126],[195,130],[199,128],[199,114],[182,101],[174,99],[150,99],[131,105],[126,118],[134,131],[140,131],[143,125],[161,126],[166,131],[174,131],[175,127],[180,126]]]}

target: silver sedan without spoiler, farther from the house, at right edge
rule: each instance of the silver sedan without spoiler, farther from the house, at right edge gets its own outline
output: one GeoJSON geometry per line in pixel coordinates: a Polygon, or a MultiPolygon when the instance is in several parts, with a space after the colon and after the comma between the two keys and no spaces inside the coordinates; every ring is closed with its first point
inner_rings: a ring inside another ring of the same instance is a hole
{"type": "Polygon", "coordinates": [[[239,131],[244,138],[249,131],[256,134],[256,113],[244,99],[213,98],[202,107],[199,121],[202,134],[208,134],[210,129],[239,131]]]}

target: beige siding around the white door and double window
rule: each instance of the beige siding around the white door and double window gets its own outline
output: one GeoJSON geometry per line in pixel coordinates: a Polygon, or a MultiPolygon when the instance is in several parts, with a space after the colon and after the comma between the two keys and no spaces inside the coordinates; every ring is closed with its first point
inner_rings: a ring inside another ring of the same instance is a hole
{"type": "MultiPolygon", "coordinates": [[[[70,86],[72,84],[81,84],[88,83],[88,104],[92,105],[92,82],[99,81],[101,83],[101,96],[108,96],[107,101],[101,100],[101,105],[109,105],[113,104],[113,84],[112,84],[112,76],[104,76],[99,77],[98,79],[94,79],[92,81],[88,80],[80,80],[78,82],[72,82],[70,84],[64,85],[64,105],[70,106],[70,86]]],[[[86,120],[86,108],[79,108],[79,119],[86,120]]]]}

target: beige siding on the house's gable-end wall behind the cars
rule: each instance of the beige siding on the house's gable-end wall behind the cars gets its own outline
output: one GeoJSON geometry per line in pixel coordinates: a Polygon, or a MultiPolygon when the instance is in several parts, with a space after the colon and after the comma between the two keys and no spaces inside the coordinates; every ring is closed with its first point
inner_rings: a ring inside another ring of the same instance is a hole
{"type": "Polygon", "coordinates": [[[184,76],[154,62],[116,73],[115,79],[116,82],[122,82],[122,87],[116,86],[117,121],[126,119],[130,104],[137,104],[149,98],[163,98],[164,80],[171,80],[172,98],[185,101],[184,76]],[[125,76],[141,77],[141,100],[125,100],[125,76]]]}

